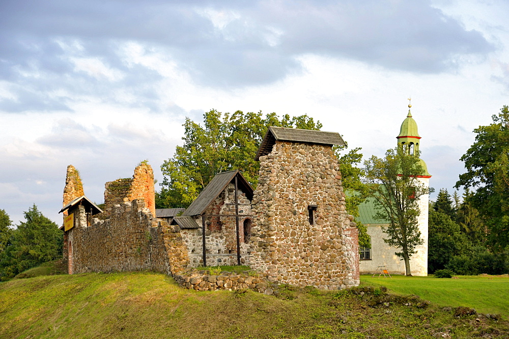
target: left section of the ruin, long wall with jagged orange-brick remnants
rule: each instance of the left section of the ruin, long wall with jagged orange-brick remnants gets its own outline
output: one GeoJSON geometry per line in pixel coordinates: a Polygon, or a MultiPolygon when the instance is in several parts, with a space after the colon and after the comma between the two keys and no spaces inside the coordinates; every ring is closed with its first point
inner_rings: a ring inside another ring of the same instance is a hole
{"type": "Polygon", "coordinates": [[[149,164],[138,165],[132,179],[105,186],[106,211],[92,218],[91,207],[100,209],[84,196],[77,170],[68,166],[63,212],[73,217],[72,228],[64,232],[64,260],[70,274],[138,270],[175,274],[188,266],[180,229],[155,218],[149,164]]]}

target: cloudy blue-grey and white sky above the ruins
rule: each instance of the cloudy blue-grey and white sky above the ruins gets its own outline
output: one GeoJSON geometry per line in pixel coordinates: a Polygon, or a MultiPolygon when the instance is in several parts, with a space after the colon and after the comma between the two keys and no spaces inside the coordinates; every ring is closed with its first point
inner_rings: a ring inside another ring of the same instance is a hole
{"type": "Polygon", "coordinates": [[[365,157],[396,144],[412,97],[431,186],[453,190],[472,130],[509,104],[509,3],[0,3],[0,209],[54,221],[66,167],[85,193],[159,166],[185,117],[307,114],[365,157]]]}

